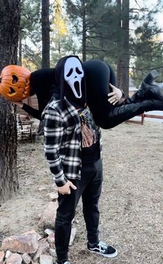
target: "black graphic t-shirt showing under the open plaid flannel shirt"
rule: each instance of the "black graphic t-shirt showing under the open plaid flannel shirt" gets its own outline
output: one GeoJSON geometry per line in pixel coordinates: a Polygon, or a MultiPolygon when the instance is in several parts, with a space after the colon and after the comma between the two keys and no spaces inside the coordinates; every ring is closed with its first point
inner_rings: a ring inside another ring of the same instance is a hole
{"type": "Polygon", "coordinates": [[[88,107],[78,110],[81,121],[81,161],[82,164],[95,162],[100,158],[99,128],[88,107]]]}

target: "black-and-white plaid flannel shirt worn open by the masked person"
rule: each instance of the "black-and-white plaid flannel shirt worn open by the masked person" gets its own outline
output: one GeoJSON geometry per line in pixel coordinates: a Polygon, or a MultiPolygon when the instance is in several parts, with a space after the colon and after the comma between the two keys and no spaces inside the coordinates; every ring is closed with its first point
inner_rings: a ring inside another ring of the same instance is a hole
{"type": "Polygon", "coordinates": [[[81,124],[77,109],[66,98],[63,109],[59,102],[53,98],[42,114],[44,151],[55,183],[64,186],[81,178],[81,124]]]}

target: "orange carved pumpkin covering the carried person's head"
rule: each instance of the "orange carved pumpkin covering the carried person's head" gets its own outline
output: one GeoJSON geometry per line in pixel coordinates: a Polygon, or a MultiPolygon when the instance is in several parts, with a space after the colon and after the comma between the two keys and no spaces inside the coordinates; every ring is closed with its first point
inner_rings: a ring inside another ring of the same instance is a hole
{"type": "Polygon", "coordinates": [[[27,98],[30,95],[30,71],[17,65],[4,67],[0,76],[0,94],[15,102],[27,98]]]}

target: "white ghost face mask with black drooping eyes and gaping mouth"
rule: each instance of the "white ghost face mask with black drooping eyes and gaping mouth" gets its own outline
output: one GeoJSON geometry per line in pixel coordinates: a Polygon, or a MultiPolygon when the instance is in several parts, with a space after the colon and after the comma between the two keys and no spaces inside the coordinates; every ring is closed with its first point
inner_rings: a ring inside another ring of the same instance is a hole
{"type": "Polygon", "coordinates": [[[84,77],[84,71],[81,62],[75,58],[70,57],[64,64],[64,80],[68,83],[73,90],[76,98],[81,98],[81,79],[84,77]]]}

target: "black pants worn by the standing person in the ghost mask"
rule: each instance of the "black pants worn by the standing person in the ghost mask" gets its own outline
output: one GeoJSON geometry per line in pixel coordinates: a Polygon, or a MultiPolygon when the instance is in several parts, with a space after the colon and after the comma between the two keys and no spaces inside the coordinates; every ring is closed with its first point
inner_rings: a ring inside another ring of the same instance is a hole
{"type": "Polygon", "coordinates": [[[71,221],[75,217],[75,209],[82,197],[84,220],[86,222],[88,242],[99,242],[99,210],[98,202],[102,189],[102,160],[93,164],[84,164],[81,169],[81,181],[72,180],[77,190],[71,188],[70,195],[59,194],[57,215],[55,220],[55,247],[58,260],[68,258],[71,221]]]}

